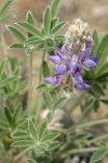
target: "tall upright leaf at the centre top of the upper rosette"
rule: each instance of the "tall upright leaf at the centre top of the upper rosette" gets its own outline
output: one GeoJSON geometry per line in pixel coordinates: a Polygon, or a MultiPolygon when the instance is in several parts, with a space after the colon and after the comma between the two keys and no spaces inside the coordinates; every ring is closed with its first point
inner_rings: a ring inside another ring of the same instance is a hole
{"type": "Polygon", "coordinates": [[[44,24],[44,33],[45,33],[45,35],[48,35],[50,32],[50,28],[51,28],[51,9],[50,9],[50,7],[48,7],[44,12],[43,24],[44,24]]]}

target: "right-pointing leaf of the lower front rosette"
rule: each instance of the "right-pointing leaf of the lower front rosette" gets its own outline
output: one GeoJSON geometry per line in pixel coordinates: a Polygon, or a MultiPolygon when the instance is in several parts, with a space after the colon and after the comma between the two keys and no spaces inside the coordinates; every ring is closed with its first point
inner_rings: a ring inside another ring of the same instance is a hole
{"type": "Polygon", "coordinates": [[[43,137],[42,142],[53,141],[59,136],[58,133],[50,133],[46,136],[43,137]]]}

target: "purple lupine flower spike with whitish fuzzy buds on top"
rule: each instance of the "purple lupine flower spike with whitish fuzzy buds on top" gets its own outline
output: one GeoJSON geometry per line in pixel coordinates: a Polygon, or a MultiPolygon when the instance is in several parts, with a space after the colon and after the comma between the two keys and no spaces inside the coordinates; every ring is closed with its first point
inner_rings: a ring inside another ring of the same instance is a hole
{"type": "Polygon", "coordinates": [[[83,82],[81,72],[96,66],[96,57],[91,57],[93,39],[87,23],[80,18],[73,21],[66,33],[66,43],[56,48],[56,55],[49,57],[54,63],[54,77],[46,77],[50,85],[63,85],[64,88],[79,91],[87,90],[90,86],[83,82]]]}

